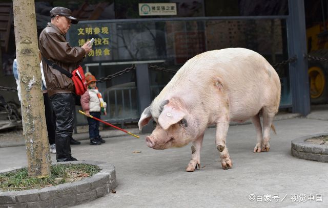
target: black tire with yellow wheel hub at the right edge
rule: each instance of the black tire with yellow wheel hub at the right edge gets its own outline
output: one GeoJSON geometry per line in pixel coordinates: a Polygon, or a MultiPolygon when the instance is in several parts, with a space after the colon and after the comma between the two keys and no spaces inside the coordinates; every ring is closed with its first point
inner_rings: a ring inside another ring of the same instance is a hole
{"type": "Polygon", "coordinates": [[[325,68],[317,63],[309,66],[309,85],[311,104],[328,102],[328,75],[325,68]]]}

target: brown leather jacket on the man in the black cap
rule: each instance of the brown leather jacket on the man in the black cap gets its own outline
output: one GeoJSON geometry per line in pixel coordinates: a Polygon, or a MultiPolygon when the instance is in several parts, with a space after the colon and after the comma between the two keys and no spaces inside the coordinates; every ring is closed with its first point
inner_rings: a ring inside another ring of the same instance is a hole
{"type": "MultiPolygon", "coordinates": [[[[66,41],[65,34],[61,34],[59,29],[50,22],[40,34],[39,49],[45,59],[51,60],[70,73],[78,67],[86,55],[83,48],[71,47],[66,41]]],[[[74,93],[72,79],[61,74],[45,61],[42,61],[42,65],[49,97],[58,93],[74,93]]]]}

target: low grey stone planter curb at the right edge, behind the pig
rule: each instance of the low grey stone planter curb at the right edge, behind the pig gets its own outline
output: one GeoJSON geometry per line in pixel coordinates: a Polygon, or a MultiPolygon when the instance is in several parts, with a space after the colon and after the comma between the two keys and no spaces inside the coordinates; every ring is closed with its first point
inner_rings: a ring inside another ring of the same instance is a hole
{"type": "Polygon", "coordinates": [[[328,147],[306,142],[309,138],[327,135],[327,132],[303,136],[292,141],[292,155],[301,159],[328,163],[328,147]]]}

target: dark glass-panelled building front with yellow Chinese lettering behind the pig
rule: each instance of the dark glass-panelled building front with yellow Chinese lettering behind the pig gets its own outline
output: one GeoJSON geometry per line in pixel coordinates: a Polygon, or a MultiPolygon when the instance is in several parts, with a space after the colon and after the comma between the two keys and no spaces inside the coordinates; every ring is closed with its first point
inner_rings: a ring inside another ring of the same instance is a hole
{"type": "MultiPolygon", "coordinates": [[[[235,47],[254,50],[273,65],[290,60],[275,67],[282,84],[280,108],[310,112],[303,0],[35,1],[38,34],[55,6],[70,8],[80,19],[67,34],[71,45],[96,39],[83,67],[98,79],[107,77],[97,83],[108,104],[107,121],[137,121],[188,59],[235,47]]],[[[8,39],[0,79],[9,81],[0,85],[10,87],[15,49],[14,37],[8,39]]],[[[76,122],[86,120],[77,115],[76,122]]]]}

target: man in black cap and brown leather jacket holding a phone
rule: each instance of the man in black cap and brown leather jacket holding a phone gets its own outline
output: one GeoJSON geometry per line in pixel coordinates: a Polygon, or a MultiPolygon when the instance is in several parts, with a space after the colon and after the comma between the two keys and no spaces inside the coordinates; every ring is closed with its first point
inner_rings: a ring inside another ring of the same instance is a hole
{"type": "MultiPolygon", "coordinates": [[[[44,59],[48,59],[72,73],[84,57],[91,51],[88,41],[82,47],[71,47],[66,41],[66,33],[71,24],[78,20],[70,9],[54,7],[50,11],[51,22],[39,36],[39,49],[44,59]]],[[[43,59],[48,95],[56,115],[56,158],[57,161],[77,160],[71,155],[70,140],[73,134],[75,107],[74,83],[72,79],[49,66],[43,59]]]]}

